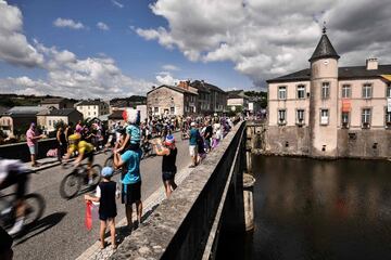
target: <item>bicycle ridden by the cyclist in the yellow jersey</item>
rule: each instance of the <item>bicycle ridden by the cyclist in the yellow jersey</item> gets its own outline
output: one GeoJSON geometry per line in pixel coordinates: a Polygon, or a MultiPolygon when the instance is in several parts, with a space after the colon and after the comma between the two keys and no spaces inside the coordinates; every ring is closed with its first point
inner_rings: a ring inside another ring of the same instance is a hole
{"type": "MultiPolygon", "coordinates": [[[[67,169],[68,164],[63,164],[63,168],[67,169]]],[[[71,199],[76,196],[80,191],[81,184],[88,186],[90,190],[94,188],[100,180],[100,172],[102,167],[100,165],[93,165],[92,171],[92,183],[88,184],[89,174],[87,165],[79,165],[75,167],[72,172],[66,174],[60,184],[60,195],[63,198],[71,199]]]]}

